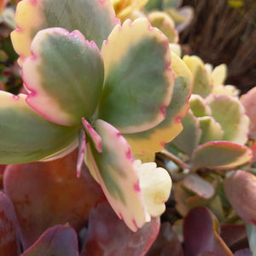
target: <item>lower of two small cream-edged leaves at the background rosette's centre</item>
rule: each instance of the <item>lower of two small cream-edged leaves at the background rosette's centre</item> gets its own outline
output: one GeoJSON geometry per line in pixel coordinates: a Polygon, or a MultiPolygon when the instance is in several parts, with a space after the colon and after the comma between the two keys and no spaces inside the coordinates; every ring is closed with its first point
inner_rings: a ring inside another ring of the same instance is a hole
{"type": "Polygon", "coordinates": [[[204,116],[198,119],[201,128],[200,144],[223,140],[224,131],[215,119],[210,116],[204,116]]]}

